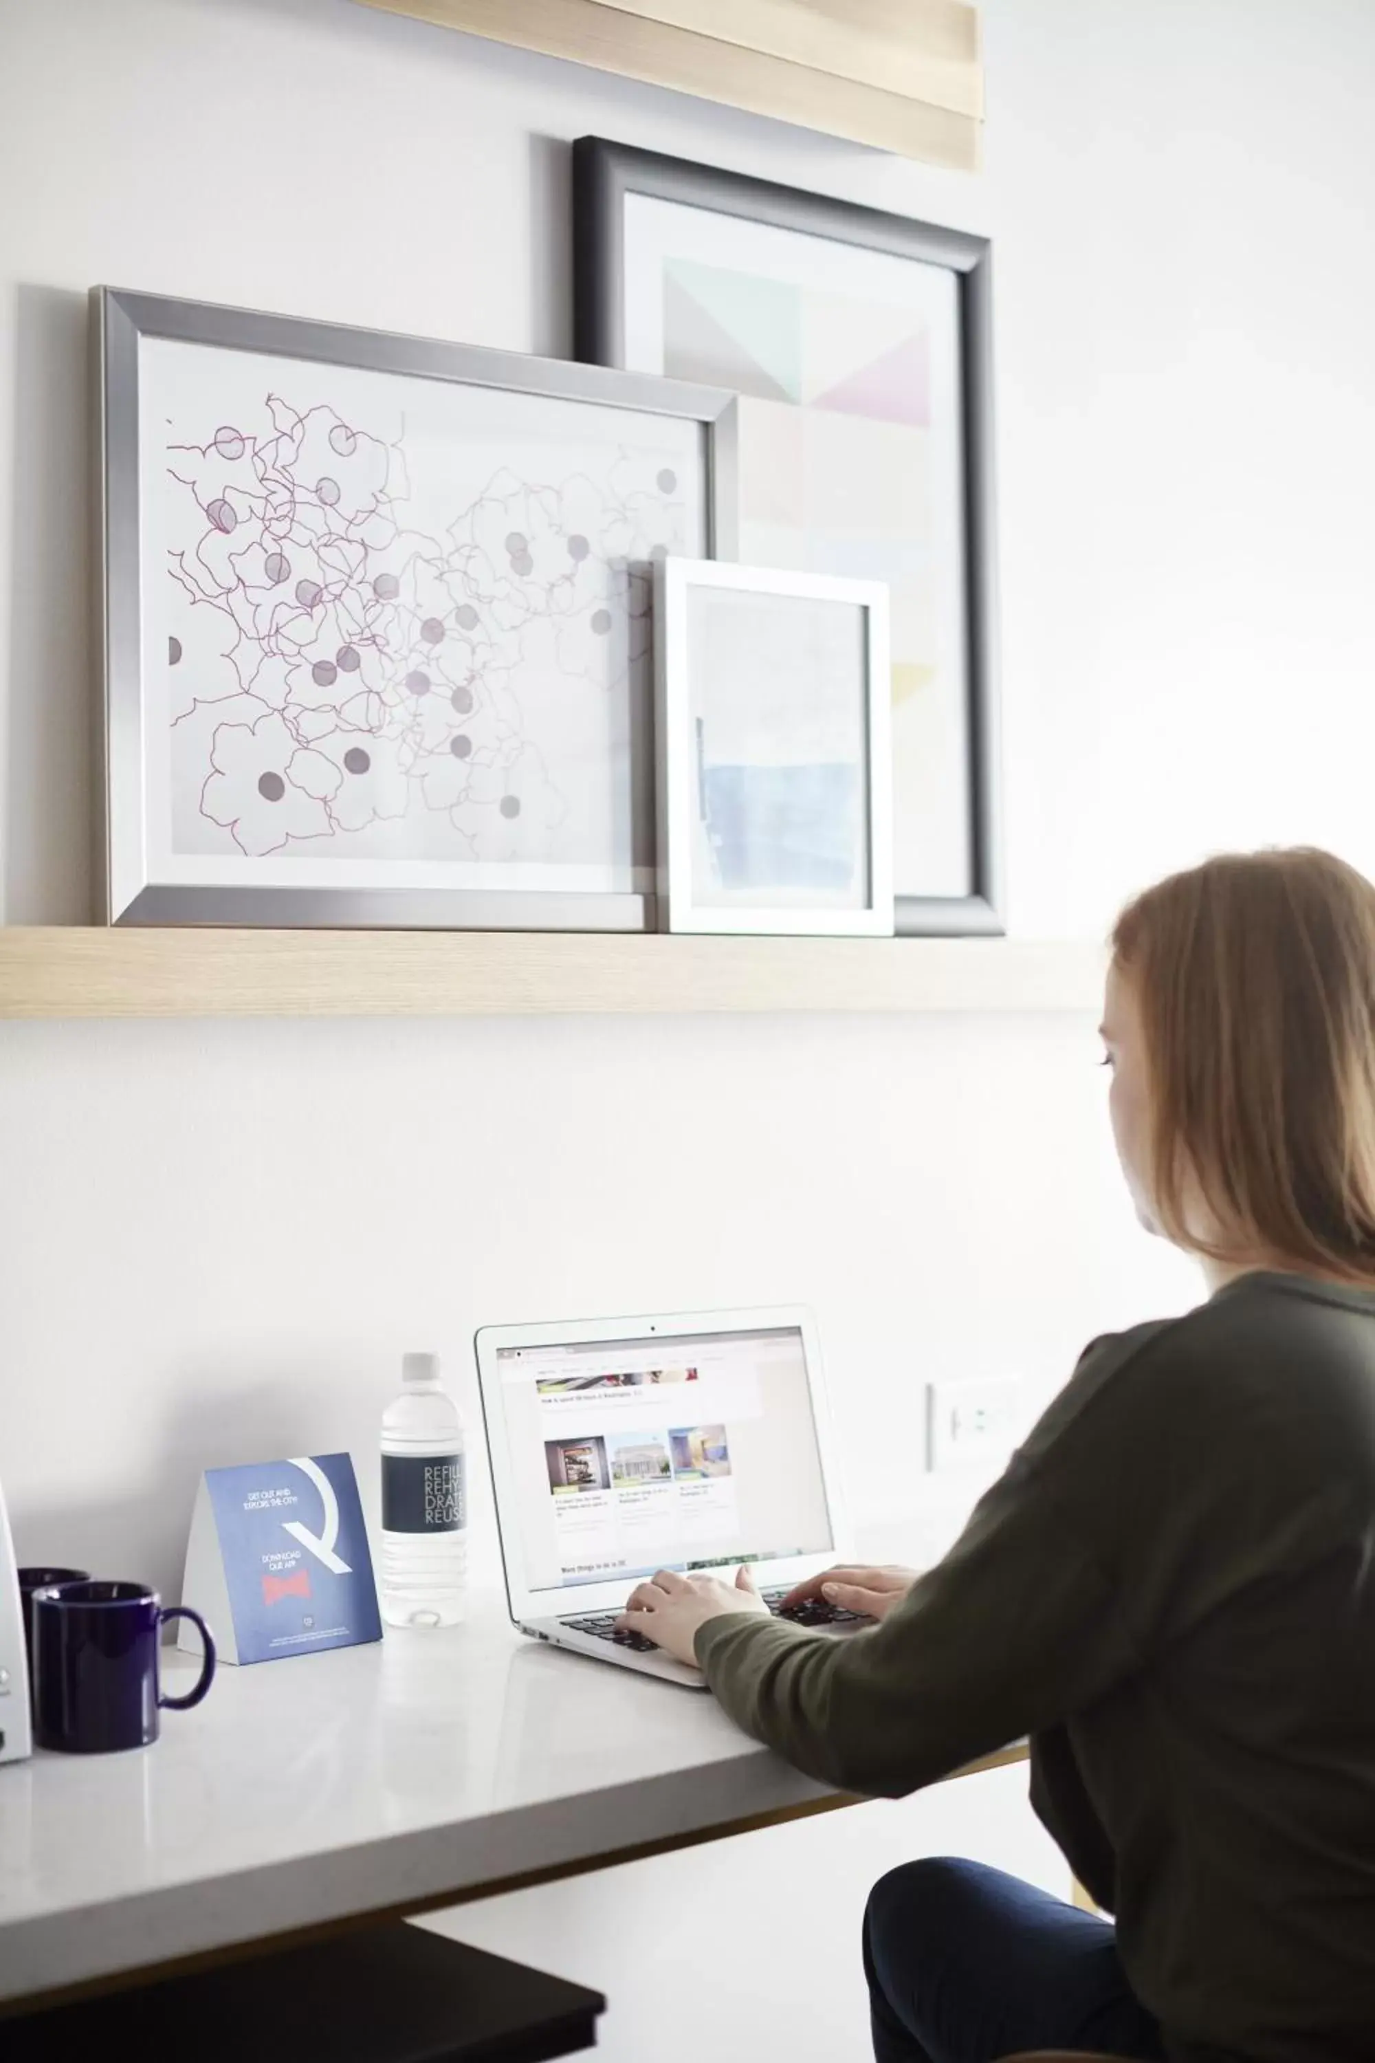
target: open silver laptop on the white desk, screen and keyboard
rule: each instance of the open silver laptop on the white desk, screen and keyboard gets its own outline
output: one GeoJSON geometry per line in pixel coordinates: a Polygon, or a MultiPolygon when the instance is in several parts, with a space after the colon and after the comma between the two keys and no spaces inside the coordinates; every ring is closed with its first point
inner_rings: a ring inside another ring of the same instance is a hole
{"type": "MultiPolygon", "coordinates": [[[[484,1327],[476,1362],[507,1601],[534,1640],[705,1690],[618,1632],[641,1578],[748,1562],[779,1611],[849,1558],[810,1312],[484,1327]]],[[[787,1617],[866,1624],[820,1599],[787,1617]]]]}

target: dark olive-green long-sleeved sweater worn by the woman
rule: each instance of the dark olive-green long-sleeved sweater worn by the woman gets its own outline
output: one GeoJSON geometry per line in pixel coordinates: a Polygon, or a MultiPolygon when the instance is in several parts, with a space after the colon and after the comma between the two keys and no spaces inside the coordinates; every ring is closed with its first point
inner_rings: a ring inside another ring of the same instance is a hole
{"type": "Polygon", "coordinates": [[[1375,1291],[1247,1275],[1095,1341],[882,1626],[728,1613],[697,1659],[847,1791],[1031,1735],[1171,2057],[1375,2059],[1375,1291]]]}

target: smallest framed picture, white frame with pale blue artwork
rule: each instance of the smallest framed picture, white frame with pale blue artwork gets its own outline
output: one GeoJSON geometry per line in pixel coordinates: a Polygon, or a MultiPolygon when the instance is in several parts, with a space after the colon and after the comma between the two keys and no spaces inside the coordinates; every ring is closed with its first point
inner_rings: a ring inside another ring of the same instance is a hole
{"type": "Polygon", "coordinates": [[[656,565],[664,930],[893,937],[888,590],[656,565]]]}

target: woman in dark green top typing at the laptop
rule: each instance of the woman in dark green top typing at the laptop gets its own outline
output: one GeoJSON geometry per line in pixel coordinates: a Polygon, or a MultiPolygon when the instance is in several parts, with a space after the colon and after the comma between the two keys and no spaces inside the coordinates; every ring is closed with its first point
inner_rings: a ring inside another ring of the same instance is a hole
{"type": "Polygon", "coordinates": [[[880,2063],[1371,2063],[1375,887],[1323,852],[1163,881],[1117,922],[1103,1040],[1136,1209],[1208,1300],[1095,1341],[938,1568],[820,1580],[872,1632],[779,1626],[744,1570],[656,1576],[627,1624],[845,1789],[1031,1735],[1033,1805],[1117,1925],[897,1869],[864,1935],[880,2063]]]}

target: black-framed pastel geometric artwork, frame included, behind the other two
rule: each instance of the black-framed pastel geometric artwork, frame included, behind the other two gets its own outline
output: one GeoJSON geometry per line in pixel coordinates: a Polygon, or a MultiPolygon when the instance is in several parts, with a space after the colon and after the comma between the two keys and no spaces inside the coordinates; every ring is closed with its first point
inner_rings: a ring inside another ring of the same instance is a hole
{"type": "Polygon", "coordinates": [[[738,400],[715,555],[891,592],[899,932],[1000,932],[990,245],[573,146],[577,357],[738,400]]]}

